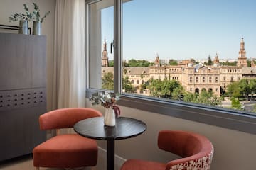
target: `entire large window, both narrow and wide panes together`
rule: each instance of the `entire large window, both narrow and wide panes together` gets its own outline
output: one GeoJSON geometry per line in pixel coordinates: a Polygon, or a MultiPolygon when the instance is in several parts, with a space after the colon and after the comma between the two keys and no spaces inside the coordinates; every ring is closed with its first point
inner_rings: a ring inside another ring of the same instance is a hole
{"type": "Polygon", "coordinates": [[[254,6],[250,0],[89,1],[88,87],[186,112],[189,106],[195,113],[254,115],[254,6]]]}

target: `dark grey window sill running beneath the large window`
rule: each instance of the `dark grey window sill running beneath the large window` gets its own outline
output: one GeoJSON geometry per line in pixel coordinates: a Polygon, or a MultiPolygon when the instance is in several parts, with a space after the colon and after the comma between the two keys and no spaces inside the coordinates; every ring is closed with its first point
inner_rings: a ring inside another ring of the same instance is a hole
{"type": "MultiPolygon", "coordinates": [[[[86,97],[96,91],[87,89],[86,97]]],[[[118,105],[256,134],[256,115],[250,112],[129,94],[123,94],[118,105]]]]}

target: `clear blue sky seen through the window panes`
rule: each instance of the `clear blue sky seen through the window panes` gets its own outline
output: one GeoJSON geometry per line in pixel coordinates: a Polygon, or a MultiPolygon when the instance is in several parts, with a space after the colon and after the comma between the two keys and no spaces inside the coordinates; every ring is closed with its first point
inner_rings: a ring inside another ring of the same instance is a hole
{"type": "MultiPolygon", "coordinates": [[[[256,58],[255,0],[133,0],[122,22],[124,60],[237,59],[242,37],[247,58],[256,58]]],[[[102,39],[111,60],[112,7],[102,10],[102,39]]]]}

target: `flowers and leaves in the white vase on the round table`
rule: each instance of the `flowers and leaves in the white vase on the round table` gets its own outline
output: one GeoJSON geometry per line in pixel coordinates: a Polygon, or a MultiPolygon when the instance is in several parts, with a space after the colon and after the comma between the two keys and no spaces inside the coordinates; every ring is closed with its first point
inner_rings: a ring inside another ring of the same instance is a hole
{"type": "Polygon", "coordinates": [[[90,96],[89,100],[92,101],[92,105],[98,105],[105,108],[112,108],[116,116],[120,115],[120,109],[116,106],[116,102],[120,99],[120,94],[114,94],[110,91],[100,91],[90,96]]]}

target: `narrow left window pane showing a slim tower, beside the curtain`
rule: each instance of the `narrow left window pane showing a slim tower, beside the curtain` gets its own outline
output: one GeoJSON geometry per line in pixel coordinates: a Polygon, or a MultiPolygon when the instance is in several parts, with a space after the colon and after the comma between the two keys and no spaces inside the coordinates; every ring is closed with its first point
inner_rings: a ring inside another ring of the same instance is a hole
{"type": "Polygon", "coordinates": [[[90,4],[90,88],[114,89],[113,1],[90,4]]]}

